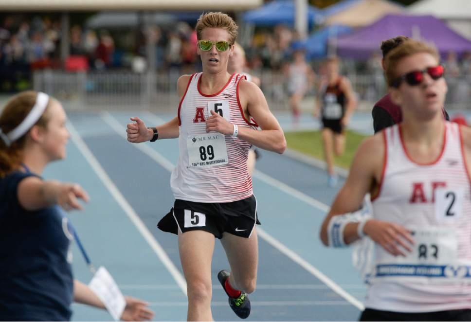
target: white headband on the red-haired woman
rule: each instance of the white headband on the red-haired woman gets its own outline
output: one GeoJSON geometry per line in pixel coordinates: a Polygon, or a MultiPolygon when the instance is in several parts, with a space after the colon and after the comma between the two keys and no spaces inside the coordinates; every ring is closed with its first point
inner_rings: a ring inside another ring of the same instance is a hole
{"type": "Polygon", "coordinates": [[[47,107],[47,103],[49,102],[49,95],[43,92],[38,92],[36,97],[35,106],[31,109],[29,114],[25,117],[25,119],[13,130],[5,134],[0,129],[0,138],[5,142],[6,145],[10,146],[11,143],[15,142],[19,138],[21,138],[28,130],[35,125],[37,120],[41,117],[44,113],[44,110],[47,107]]]}

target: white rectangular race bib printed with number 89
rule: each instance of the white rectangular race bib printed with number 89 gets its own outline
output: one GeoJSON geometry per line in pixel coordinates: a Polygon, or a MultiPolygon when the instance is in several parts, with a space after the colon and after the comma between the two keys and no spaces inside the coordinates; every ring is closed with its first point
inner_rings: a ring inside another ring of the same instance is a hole
{"type": "Polygon", "coordinates": [[[188,165],[191,168],[210,168],[227,164],[226,138],[221,133],[189,135],[186,139],[188,165]]]}

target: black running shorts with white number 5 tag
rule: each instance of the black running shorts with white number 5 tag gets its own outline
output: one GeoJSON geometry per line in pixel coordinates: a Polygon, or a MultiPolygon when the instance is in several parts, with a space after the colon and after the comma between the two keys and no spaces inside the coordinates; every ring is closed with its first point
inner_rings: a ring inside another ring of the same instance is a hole
{"type": "Polygon", "coordinates": [[[202,230],[222,238],[222,233],[249,238],[257,218],[257,200],[251,197],[233,202],[203,203],[176,199],[157,227],[167,233],[202,230]]]}

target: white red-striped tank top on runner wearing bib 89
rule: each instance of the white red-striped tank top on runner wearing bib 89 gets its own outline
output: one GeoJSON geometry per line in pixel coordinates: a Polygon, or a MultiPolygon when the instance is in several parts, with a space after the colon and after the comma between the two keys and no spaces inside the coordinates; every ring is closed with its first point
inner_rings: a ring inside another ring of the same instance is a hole
{"type": "Polygon", "coordinates": [[[238,85],[244,76],[233,74],[216,94],[200,91],[202,73],[193,74],[178,109],[180,122],[177,167],[170,184],[176,199],[195,202],[231,202],[252,196],[247,170],[251,144],[217,132],[206,133],[206,120],[215,111],[230,123],[257,129],[240,106],[238,85]]]}

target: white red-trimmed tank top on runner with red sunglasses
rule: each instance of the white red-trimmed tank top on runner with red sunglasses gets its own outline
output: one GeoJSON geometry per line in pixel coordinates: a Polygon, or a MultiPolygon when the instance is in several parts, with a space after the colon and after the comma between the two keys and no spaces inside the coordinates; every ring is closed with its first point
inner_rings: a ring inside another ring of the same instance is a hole
{"type": "Polygon", "coordinates": [[[471,196],[461,131],[445,122],[443,148],[432,163],[412,161],[399,125],[386,128],[385,164],[375,219],[413,232],[405,257],[375,245],[365,306],[396,312],[471,307],[471,196]]]}

